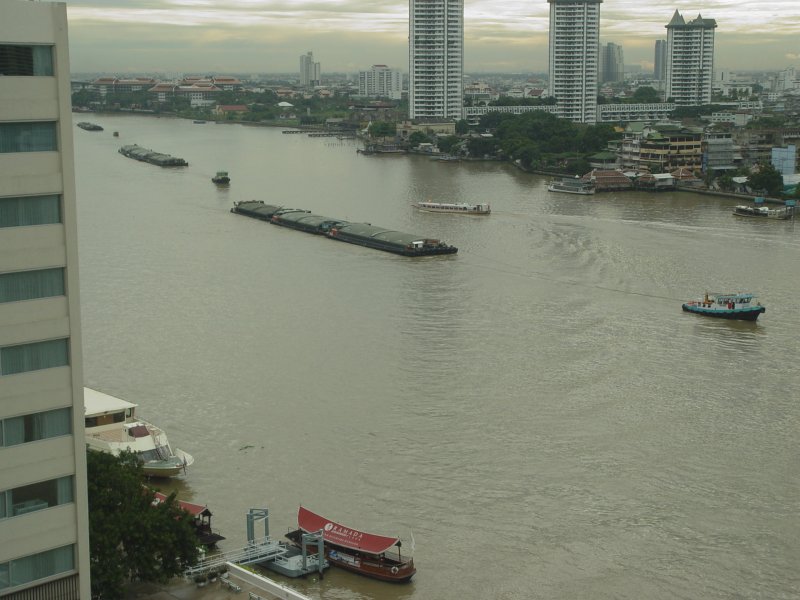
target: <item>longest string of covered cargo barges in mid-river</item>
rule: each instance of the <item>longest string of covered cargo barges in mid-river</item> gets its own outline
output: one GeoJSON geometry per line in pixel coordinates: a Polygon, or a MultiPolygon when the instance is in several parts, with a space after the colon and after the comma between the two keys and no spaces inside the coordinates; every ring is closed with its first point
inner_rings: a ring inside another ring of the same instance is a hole
{"type": "Polygon", "coordinates": [[[369,223],[351,223],[342,219],[315,215],[311,211],[299,208],[264,204],[261,200],[234,202],[231,212],[306,233],[324,235],[332,240],[403,256],[431,256],[458,252],[458,248],[440,240],[376,227],[369,223]]]}

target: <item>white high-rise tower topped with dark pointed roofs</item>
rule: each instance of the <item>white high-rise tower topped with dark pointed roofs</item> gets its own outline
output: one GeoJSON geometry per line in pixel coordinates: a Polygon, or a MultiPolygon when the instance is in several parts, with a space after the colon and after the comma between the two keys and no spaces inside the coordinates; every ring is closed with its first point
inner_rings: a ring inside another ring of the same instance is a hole
{"type": "Polygon", "coordinates": [[[666,96],[678,106],[711,104],[714,76],[714,19],[688,23],[676,10],[667,28],[666,96]]]}

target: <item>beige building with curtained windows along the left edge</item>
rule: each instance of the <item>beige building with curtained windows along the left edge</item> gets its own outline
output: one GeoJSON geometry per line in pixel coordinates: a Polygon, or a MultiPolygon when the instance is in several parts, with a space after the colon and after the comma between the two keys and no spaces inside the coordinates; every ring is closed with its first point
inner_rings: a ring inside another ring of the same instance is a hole
{"type": "Polygon", "coordinates": [[[0,0],[0,596],[91,597],[65,3],[0,0]]]}

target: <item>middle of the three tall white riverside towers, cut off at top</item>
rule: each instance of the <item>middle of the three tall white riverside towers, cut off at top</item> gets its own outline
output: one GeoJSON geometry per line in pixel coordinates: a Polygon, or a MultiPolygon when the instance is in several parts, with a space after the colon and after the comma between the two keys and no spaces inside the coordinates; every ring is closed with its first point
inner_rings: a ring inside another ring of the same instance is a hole
{"type": "Polygon", "coordinates": [[[558,116],[597,122],[600,4],[603,0],[550,3],[550,95],[558,116]]]}

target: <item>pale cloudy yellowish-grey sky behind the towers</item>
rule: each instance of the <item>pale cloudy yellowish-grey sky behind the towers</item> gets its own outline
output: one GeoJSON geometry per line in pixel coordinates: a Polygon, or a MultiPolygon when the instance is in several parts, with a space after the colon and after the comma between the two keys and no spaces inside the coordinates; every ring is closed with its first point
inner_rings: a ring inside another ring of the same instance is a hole
{"type": "MultiPolygon", "coordinates": [[[[294,73],[314,53],[326,72],[408,71],[403,0],[66,0],[76,73],[294,73]]],[[[2,10],[0,4],[0,11],[2,10]]],[[[652,71],[675,10],[715,19],[715,67],[800,68],[800,0],[603,0],[600,42],[652,71]]],[[[546,0],[464,0],[464,71],[547,71],[546,0]]]]}

